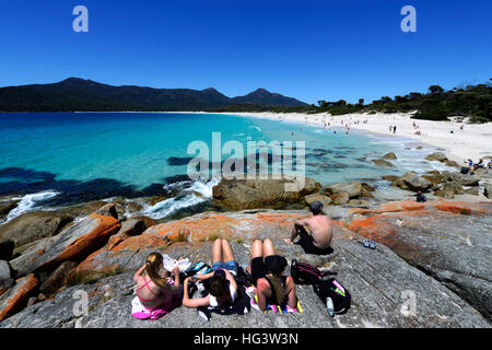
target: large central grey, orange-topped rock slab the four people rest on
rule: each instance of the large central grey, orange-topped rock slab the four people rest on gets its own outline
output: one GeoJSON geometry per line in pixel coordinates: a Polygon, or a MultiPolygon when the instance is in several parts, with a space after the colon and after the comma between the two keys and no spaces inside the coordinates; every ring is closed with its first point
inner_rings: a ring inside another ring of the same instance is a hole
{"type": "Polygon", "coordinates": [[[75,324],[87,328],[257,328],[258,325],[267,328],[490,327],[480,313],[448,288],[410,266],[383,244],[375,250],[364,248],[359,243],[362,237],[343,229],[340,223],[336,225],[332,242],[335,253],[329,256],[305,255],[300,246],[284,243],[282,237],[285,237],[292,221],[305,214],[305,211],[209,213],[169,223],[157,231],[151,228],[141,236],[126,240],[106,255],[99,252],[98,265],[93,266],[101,268],[106,264],[109,267],[119,261],[128,272],[65,289],[52,300],[28,306],[3,320],[0,327],[74,327],[75,324]],[[244,316],[213,314],[210,322],[204,322],[196,310],[181,306],[152,323],[133,319],[130,316],[134,296],[132,273],[142,265],[147,254],[156,250],[175,258],[184,255],[194,261],[210,261],[212,243],[202,241],[198,233],[203,230],[204,234],[213,226],[212,222],[220,228],[221,235],[230,237],[234,256],[243,267],[249,262],[253,240],[270,237],[278,253],[289,261],[295,258],[337,271],[337,279],[352,294],[351,308],[347,314],[331,318],[312,287],[296,285],[303,313],[295,315],[263,314],[251,310],[244,316]],[[200,229],[203,225],[208,229],[200,229]],[[159,246],[164,242],[163,234],[185,226],[190,230],[187,242],[159,246]],[[73,299],[75,291],[83,291],[89,296],[89,314],[79,318],[72,312],[77,302],[73,299]],[[403,310],[409,293],[414,293],[417,299],[414,314],[407,314],[403,310]]]}

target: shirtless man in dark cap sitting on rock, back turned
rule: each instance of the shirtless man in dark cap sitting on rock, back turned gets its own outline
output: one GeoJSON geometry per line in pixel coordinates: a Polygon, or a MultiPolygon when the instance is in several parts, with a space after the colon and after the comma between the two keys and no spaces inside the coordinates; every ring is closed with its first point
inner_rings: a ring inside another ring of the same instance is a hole
{"type": "Polygon", "coordinates": [[[332,252],[330,244],[333,236],[331,220],[323,213],[323,205],[319,201],[312,202],[309,210],[313,217],[295,220],[291,237],[284,238],[284,241],[294,244],[294,240],[298,235],[300,240],[297,244],[307,254],[329,254],[332,252]]]}

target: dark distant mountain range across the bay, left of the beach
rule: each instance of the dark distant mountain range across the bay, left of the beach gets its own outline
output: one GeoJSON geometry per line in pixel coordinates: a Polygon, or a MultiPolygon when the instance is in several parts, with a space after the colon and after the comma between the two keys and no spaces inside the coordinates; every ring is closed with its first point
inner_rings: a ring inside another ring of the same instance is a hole
{"type": "Polygon", "coordinates": [[[0,112],[207,110],[231,105],[306,106],[265,89],[227,97],[213,88],[114,86],[80,78],[51,84],[0,88],[0,112]]]}

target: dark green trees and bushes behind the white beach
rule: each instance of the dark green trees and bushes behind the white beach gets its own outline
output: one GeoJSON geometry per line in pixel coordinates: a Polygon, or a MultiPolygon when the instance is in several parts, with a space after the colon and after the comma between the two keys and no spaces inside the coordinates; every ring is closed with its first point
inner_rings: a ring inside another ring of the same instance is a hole
{"type": "MultiPolygon", "coordinates": [[[[492,79],[491,79],[492,81],[492,79]]],[[[492,121],[491,82],[445,91],[440,85],[429,86],[426,94],[411,92],[405,96],[383,96],[364,105],[364,98],[350,104],[344,100],[337,102],[318,101],[318,105],[308,106],[263,106],[254,104],[230,105],[211,108],[209,112],[273,112],[273,113],[329,113],[333,116],[349,113],[396,113],[413,112],[414,119],[448,120],[453,116],[470,117],[472,122],[492,121]]]]}

